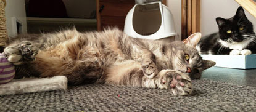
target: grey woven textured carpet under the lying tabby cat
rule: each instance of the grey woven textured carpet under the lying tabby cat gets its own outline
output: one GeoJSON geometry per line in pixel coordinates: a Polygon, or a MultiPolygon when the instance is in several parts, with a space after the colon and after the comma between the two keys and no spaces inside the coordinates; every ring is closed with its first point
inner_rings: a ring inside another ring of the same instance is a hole
{"type": "Polygon", "coordinates": [[[205,79],[189,96],[167,90],[89,84],[66,92],[0,97],[0,111],[256,111],[256,88],[205,79]]]}

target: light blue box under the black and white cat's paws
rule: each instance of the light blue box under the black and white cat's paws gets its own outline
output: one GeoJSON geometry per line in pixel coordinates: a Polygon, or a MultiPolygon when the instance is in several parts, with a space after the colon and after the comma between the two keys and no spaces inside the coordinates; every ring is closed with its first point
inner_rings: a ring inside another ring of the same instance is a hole
{"type": "Polygon", "coordinates": [[[216,62],[216,67],[252,69],[256,68],[256,54],[253,55],[201,55],[204,60],[216,62]]]}

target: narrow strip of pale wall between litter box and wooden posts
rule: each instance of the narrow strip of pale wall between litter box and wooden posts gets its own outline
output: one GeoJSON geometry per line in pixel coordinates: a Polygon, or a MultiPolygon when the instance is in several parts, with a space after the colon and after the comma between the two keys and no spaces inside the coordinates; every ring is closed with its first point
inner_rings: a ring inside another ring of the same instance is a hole
{"type": "Polygon", "coordinates": [[[167,0],[167,7],[173,14],[175,30],[178,33],[175,40],[181,40],[181,0],[167,0]]]}

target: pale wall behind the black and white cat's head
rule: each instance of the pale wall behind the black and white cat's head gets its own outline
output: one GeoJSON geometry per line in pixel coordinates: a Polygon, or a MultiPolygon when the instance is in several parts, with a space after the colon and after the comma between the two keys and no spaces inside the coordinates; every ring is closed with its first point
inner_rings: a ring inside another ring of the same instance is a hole
{"type": "MultiPolygon", "coordinates": [[[[205,36],[218,31],[215,18],[231,18],[236,14],[240,5],[234,0],[202,0],[201,1],[201,33],[205,36]]],[[[245,9],[244,9],[245,10],[245,9]]],[[[255,9],[256,10],[256,9],[255,9]]],[[[246,17],[254,25],[256,32],[256,18],[245,10],[246,17]]]]}

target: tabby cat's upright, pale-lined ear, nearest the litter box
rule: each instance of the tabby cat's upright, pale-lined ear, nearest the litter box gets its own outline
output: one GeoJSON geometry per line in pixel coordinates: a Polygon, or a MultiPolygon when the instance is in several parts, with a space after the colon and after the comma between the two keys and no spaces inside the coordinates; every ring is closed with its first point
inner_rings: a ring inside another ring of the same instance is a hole
{"type": "Polygon", "coordinates": [[[201,39],[201,36],[202,36],[201,33],[194,33],[194,34],[191,34],[191,36],[189,36],[188,38],[184,39],[182,42],[186,45],[196,47],[196,45],[201,39]]]}

